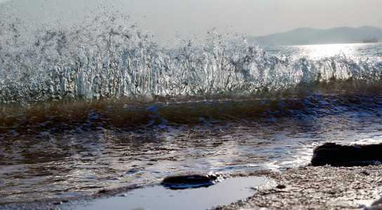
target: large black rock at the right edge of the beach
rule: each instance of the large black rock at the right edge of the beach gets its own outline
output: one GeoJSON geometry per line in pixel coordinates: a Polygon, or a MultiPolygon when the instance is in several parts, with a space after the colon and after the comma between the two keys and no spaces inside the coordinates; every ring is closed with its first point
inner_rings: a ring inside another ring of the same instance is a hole
{"type": "Polygon", "coordinates": [[[313,151],[311,165],[352,167],[378,165],[382,161],[382,144],[343,146],[325,143],[313,151]]]}

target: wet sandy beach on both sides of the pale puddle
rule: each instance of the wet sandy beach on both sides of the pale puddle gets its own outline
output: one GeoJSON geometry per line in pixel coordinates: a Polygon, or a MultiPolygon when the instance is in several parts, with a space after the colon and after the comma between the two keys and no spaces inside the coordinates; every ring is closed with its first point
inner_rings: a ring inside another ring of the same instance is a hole
{"type": "MultiPolygon", "coordinates": [[[[263,176],[272,179],[272,184],[255,187],[256,193],[228,205],[206,209],[380,209],[382,193],[381,165],[365,167],[322,167],[303,166],[285,169],[282,172],[269,170],[234,177],[263,176]],[[371,204],[376,202],[376,206],[371,204]]],[[[81,209],[91,202],[106,202],[131,188],[103,191],[91,197],[72,200],[45,200],[29,203],[13,203],[2,209],[81,209]]],[[[225,193],[230,194],[230,190],[225,193]]],[[[106,202],[107,203],[107,202],[106,202]]],[[[110,203],[109,203],[110,204],[110,203]]],[[[170,207],[171,204],[169,204],[170,207]]],[[[128,205],[129,206],[129,205],[128,205]]],[[[124,203],[114,203],[112,208],[128,208],[124,203]],[[114,205],[114,206],[113,206],[114,205]],[[125,206],[125,207],[124,207],[125,206]]],[[[95,207],[98,208],[98,207],[95,207]]],[[[141,207],[145,209],[144,205],[141,207]]],[[[171,208],[170,208],[171,209],[171,208]]]]}

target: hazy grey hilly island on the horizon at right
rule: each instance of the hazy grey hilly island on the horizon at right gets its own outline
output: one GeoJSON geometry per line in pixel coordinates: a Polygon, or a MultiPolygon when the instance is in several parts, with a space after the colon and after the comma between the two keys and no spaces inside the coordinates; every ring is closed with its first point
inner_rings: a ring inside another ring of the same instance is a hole
{"type": "Polygon", "coordinates": [[[382,40],[382,29],[364,26],[333,29],[299,28],[267,36],[247,36],[261,45],[310,45],[327,43],[376,43],[382,40]]]}

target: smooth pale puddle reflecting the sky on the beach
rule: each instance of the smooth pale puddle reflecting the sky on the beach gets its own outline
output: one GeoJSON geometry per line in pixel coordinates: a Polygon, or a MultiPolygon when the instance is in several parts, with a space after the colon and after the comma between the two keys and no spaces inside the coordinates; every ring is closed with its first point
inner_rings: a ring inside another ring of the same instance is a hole
{"type": "Polygon", "coordinates": [[[255,186],[270,183],[265,177],[237,177],[225,179],[208,188],[187,188],[171,190],[154,186],[131,190],[116,197],[107,197],[75,207],[75,209],[209,209],[230,204],[256,193],[255,186]]]}

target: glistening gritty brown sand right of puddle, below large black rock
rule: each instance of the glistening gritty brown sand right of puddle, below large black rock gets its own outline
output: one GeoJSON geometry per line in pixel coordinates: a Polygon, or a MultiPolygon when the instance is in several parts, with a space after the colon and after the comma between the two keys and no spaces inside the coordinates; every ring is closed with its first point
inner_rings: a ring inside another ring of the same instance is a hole
{"type": "Polygon", "coordinates": [[[259,187],[252,197],[216,209],[365,209],[382,197],[381,165],[307,166],[245,176],[267,176],[275,185],[259,187]]]}

